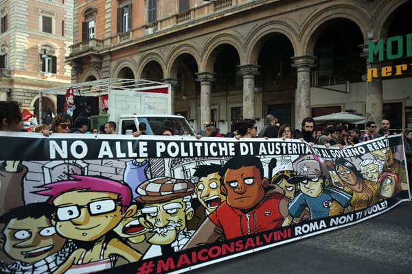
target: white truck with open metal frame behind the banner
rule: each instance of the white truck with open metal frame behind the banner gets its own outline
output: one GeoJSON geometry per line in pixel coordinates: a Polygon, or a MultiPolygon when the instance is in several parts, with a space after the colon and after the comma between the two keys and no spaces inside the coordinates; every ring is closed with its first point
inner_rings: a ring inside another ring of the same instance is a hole
{"type": "Polygon", "coordinates": [[[91,116],[91,128],[114,121],[118,134],[130,134],[137,131],[139,123],[146,123],[148,135],[161,126],[170,127],[174,134],[195,135],[185,117],[172,115],[170,84],[144,79],[102,79],[41,90],[40,97],[67,95],[70,89],[74,96],[77,92],[78,96],[98,97],[99,105],[103,105],[103,98],[108,100],[108,114],[91,116]]]}

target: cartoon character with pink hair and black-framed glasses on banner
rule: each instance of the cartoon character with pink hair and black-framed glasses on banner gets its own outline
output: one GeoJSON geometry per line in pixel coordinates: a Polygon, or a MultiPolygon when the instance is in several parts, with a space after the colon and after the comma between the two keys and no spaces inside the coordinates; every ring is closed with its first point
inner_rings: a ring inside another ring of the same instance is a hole
{"type": "Polygon", "coordinates": [[[90,273],[113,268],[118,256],[135,262],[141,254],[119,240],[112,229],[133,216],[132,192],[126,184],[103,177],[71,175],[68,181],[46,184],[55,212],[52,224],[65,238],[89,242],[91,249],[79,248],[55,273],[90,273]]]}

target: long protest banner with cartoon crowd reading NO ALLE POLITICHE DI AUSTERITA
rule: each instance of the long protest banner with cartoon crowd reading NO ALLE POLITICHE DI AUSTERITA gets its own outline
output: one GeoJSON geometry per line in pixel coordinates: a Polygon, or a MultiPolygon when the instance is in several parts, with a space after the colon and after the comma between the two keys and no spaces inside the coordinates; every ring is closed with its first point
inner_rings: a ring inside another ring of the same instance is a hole
{"type": "Polygon", "coordinates": [[[342,150],[8,132],[0,144],[1,273],[183,273],[410,200],[401,136],[342,150]]]}

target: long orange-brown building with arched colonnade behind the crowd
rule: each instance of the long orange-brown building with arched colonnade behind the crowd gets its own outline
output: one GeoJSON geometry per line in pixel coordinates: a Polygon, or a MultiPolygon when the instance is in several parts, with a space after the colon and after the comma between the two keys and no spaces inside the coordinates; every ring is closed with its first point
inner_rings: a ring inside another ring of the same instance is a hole
{"type": "MultiPolygon", "coordinates": [[[[173,86],[173,111],[221,132],[242,118],[350,111],[412,126],[411,68],[365,81],[368,42],[412,33],[400,0],[78,0],[73,82],[142,78],[173,86]]],[[[411,62],[409,62],[411,63],[411,62]]]]}

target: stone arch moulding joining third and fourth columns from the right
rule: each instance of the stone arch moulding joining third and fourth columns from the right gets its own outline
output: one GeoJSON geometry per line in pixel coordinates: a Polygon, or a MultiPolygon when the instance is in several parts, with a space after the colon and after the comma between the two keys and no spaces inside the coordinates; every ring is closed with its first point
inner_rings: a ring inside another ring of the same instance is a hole
{"type": "Polygon", "coordinates": [[[218,34],[217,36],[211,36],[203,47],[201,56],[204,56],[204,59],[201,60],[199,65],[199,72],[208,71],[213,72],[213,67],[216,62],[216,56],[218,55],[219,46],[221,45],[230,45],[236,49],[238,52],[240,64],[244,64],[244,47],[242,46],[242,41],[235,34],[218,34]]]}

